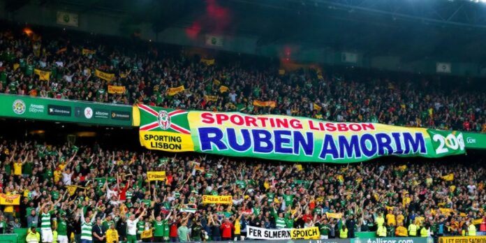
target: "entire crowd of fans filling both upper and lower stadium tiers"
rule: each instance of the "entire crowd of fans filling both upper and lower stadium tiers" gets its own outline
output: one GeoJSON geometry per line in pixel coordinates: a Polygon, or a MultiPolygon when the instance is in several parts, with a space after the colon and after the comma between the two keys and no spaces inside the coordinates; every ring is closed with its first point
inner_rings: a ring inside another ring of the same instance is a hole
{"type": "MultiPolygon", "coordinates": [[[[486,132],[486,93],[461,89],[467,83],[446,88],[320,70],[279,74],[156,47],[79,41],[2,31],[0,92],[486,132]],[[49,80],[35,69],[50,71],[49,80]],[[115,79],[98,78],[95,70],[115,79]],[[126,92],[108,94],[108,85],[126,92]],[[168,94],[182,85],[184,91],[168,94]]],[[[338,166],[108,149],[3,140],[1,193],[18,194],[21,202],[1,206],[0,233],[29,228],[31,242],[40,235],[43,242],[184,242],[241,240],[246,226],[318,226],[321,237],[486,232],[481,158],[338,166]],[[147,182],[154,170],[166,172],[165,182],[147,182]],[[233,203],[202,204],[203,195],[233,196],[233,203]]]]}

